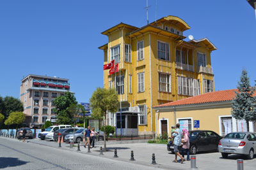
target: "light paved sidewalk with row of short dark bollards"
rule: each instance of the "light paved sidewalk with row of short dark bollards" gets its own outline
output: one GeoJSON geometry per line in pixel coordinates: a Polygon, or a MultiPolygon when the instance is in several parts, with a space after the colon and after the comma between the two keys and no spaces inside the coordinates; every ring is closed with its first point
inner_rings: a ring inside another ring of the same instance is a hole
{"type": "MultiPolygon", "coordinates": [[[[28,140],[29,141],[29,140],[28,140]]],[[[42,141],[40,139],[30,140],[31,143],[37,143],[39,145],[51,146],[54,148],[58,147],[58,143],[54,141],[42,141]]],[[[77,144],[76,144],[77,145],[77,144]]],[[[68,143],[61,143],[64,150],[70,150],[70,152],[77,152],[77,148],[69,148],[68,143]]],[[[81,153],[95,155],[97,157],[106,157],[109,159],[122,160],[125,162],[132,162],[134,164],[141,164],[147,166],[151,165],[152,153],[156,155],[157,165],[154,167],[159,167],[163,169],[190,169],[190,162],[184,162],[184,164],[174,163],[172,160],[175,155],[168,152],[166,145],[159,144],[149,144],[149,143],[134,143],[134,144],[115,144],[107,145],[108,152],[104,152],[104,155],[99,155],[100,146],[92,148],[92,153],[87,153],[87,148],[85,149],[81,146],[81,153]],[[118,158],[113,158],[114,150],[117,149],[118,158]],[[135,161],[130,161],[131,150],[134,152],[135,161]]],[[[186,157],[186,156],[185,156],[186,157]]],[[[196,154],[196,166],[198,169],[237,169],[236,159],[244,159],[240,155],[230,155],[228,159],[222,159],[221,154],[218,152],[201,152],[196,154]]],[[[244,160],[244,169],[255,169],[256,161],[244,160]]]]}

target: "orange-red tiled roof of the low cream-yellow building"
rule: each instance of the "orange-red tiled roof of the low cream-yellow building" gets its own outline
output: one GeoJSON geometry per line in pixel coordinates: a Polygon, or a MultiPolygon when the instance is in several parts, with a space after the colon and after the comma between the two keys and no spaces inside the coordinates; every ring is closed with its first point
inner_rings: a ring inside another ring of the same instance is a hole
{"type": "Polygon", "coordinates": [[[237,89],[230,89],[230,90],[221,90],[217,92],[209,92],[206,94],[201,94],[199,96],[193,96],[193,97],[188,97],[186,99],[181,99],[179,101],[160,104],[158,106],[154,106],[154,108],[180,106],[180,105],[188,105],[188,104],[214,103],[214,102],[220,102],[220,101],[231,101],[235,97],[235,90],[237,91],[237,89]]]}

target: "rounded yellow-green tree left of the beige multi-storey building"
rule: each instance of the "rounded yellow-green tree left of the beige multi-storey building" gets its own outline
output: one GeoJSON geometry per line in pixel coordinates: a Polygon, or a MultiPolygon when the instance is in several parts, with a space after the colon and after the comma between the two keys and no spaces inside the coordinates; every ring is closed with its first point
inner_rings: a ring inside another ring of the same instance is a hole
{"type": "Polygon", "coordinates": [[[9,117],[4,121],[5,125],[19,125],[25,120],[25,115],[20,111],[10,113],[9,117]]]}

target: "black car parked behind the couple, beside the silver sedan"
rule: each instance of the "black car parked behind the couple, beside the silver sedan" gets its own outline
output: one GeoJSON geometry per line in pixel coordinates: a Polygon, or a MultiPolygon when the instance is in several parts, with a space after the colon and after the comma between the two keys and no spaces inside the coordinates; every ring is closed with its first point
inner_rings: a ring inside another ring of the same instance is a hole
{"type": "MultiPolygon", "coordinates": [[[[190,154],[200,151],[218,150],[218,143],[222,137],[213,131],[189,131],[190,154]]],[[[167,150],[174,153],[173,142],[169,141],[167,150]]]]}

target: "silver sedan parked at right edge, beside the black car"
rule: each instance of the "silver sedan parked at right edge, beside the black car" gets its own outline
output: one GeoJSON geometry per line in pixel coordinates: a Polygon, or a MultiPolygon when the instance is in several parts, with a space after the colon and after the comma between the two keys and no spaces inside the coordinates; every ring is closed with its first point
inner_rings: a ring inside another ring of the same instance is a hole
{"type": "Polygon", "coordinates": [[[229,154],[246,155],[253,159],[256,153],[256,134],[252,132],[232,132],[219,141],[218,150],[223,158],[229,154]]]}

